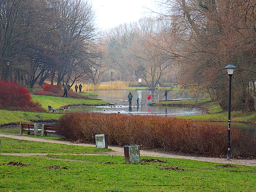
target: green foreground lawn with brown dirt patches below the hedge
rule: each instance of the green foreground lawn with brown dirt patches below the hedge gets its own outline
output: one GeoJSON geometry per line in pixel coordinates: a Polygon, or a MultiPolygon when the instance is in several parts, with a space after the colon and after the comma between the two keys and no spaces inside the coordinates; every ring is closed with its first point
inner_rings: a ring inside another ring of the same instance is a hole
{"type": "Polygon", "coordinates": [[[94,147],[0,139],[2,153],[47,153],[49,147],[52,153],[0,155],[3,192],[240,192],[256,188],[255,167],[245,165],[152,157],[126,164],[123,156],[87,156],[105,153],[94,147]]]}

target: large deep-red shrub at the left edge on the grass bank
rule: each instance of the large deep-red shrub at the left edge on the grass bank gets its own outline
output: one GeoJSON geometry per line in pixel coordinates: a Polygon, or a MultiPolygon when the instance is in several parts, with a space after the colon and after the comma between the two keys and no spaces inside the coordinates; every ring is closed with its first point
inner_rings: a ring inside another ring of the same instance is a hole
{"type": "Polygon", "coordinates": [[[39,103],[32,102],[30,92],[14,82],[0,80],[0,109],[45,111],[39,103]]]}

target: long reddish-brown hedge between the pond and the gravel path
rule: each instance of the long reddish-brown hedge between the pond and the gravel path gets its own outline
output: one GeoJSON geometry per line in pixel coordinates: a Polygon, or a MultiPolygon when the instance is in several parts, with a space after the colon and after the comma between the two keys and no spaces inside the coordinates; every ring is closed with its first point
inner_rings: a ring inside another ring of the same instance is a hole
{"type": "MultiPolygon", "coordinates": [[[[111,145],[138,144],[144,149],[214,156],[226,154],[225,126],[174,117],[69,113],[59,119],[57,132],[69,140],[87,143],[95,143],[96,134],[106,133],[111,145]]],[[[231,139],[231,149],[235,146],[237,155],[255,154],[255,140],[241,137],[238,128],[232,129],[231,139]],[[242,150],[244,148],[247,151],[242,150]]]]}

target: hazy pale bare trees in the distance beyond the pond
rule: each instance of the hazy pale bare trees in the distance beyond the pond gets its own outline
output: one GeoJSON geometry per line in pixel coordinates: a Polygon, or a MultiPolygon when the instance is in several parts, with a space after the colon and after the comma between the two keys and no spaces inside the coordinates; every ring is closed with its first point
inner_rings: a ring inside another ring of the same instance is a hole
{"type": "Polygon", "coordinates": [[[112,77],[130,82],[143,78],[152,90],[158,84],[170,81],[169,71],[174,71],[174,57],[170,52],[173,53],[174,44],[166,41],[171,34],[167,23],[159,18],[143,18],[108,32],[105,37],[106,60],[117,74],[112,77]]]}

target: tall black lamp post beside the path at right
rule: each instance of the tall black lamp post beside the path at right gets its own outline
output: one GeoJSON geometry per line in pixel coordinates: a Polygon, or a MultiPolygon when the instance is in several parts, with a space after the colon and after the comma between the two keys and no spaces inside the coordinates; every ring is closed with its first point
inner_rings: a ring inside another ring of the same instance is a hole
{"type": "Polygon", "coordinates": [[[230,113],[231,113],[231,79],[235,66],[229,64],[224,67],[229,75],[229,96],[228,96],[228,124],[227,124],[227,160],[230,160],[230,113]]]}

